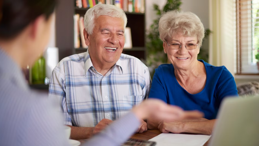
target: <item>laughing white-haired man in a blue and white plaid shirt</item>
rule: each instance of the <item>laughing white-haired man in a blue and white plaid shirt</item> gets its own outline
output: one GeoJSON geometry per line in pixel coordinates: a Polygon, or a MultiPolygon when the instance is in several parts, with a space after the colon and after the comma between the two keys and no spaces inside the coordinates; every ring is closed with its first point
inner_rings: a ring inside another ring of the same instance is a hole
{"type": "MultiPolygon", "coordinates": [[[[84,18],[87,52],[62,59],[53,70],[49,96],[59,100],[72,139],[91,137],[148,97],[148,68],[122,54],[126,23],[123,10],[95,5],[84,18]]],[[[145,130],[142,120],[137,132],[145,130]]]]}

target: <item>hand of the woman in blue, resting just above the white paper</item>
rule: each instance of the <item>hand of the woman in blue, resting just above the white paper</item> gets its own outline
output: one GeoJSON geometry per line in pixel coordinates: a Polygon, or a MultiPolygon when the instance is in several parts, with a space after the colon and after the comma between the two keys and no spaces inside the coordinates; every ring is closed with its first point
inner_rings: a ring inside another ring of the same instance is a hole
{"type": "Polygon", "coordinates": [[[163,122],[160,121],[158,125],[158,129],[163,133],[182,133],[184,132],[184,123],[182,121],[173,121],[173,122],[163,122]]]}

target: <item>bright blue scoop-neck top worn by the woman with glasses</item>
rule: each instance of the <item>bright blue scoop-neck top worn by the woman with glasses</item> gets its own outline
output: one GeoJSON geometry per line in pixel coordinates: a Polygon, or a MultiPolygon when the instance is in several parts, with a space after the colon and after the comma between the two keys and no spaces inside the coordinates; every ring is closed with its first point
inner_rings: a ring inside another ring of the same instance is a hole
{"type": "Polygon", "coordinates": [[[162,64],[156,68],[149,98],[161,99],[184,110],[199,110],[205,118],[217,116],[220,103],[227,96],[238,96],[234,77],[225,66],[216,67],[199,60],[206,69],[206,84],[197,94],[190,94],[177,82],[172,64],[162,64]]]}

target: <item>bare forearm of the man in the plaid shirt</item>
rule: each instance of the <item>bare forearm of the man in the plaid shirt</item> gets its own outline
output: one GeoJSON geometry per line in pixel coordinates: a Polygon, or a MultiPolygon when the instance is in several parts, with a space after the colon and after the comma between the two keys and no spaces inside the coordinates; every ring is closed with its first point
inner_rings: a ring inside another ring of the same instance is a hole
{"type": "Polygon", "coordinates": [[[79,139],[88,139],[92,137],[93,135],[93,129],[94,127],[75,127],[75,126],[70,126],[71,127],[71,139],[79,140],[79,139]]]}

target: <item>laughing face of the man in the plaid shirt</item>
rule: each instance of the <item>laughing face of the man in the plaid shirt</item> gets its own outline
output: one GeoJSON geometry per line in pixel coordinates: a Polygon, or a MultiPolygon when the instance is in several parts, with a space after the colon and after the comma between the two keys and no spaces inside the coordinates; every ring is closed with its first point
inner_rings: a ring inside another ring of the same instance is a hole
{"type": "Polygon", "coordinates": [[[123,19],[99,16],[95,19],[93,34],[88,35],[89,54],[93,64],[115,64],[122,53],[125,37],[123,19]]]}

